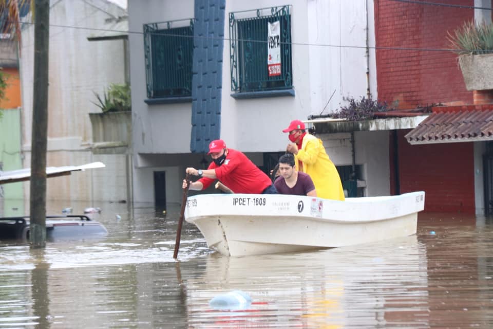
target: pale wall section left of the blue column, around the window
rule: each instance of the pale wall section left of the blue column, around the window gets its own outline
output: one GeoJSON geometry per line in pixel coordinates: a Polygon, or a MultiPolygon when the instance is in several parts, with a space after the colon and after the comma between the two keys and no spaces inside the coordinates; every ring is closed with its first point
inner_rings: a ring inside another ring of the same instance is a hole
{"type": "MultiPolygon", "coordinates": [[[[194,17],[194,0],[128,2],[130,31],[142,32],[143,25],[194,17]]],[[[138,153],[189,153],[192,133],[192,103],[147,105],[144,38],[129,33],[130,79],[132,85],[133,146],[138,153]],[[173,142],[170,142],[173,140],[173,142]]],[[[229,63],[229,62],[228,62],[229,63]]],[[[136,167],[143,167],[139,157],[136,167]]]]}

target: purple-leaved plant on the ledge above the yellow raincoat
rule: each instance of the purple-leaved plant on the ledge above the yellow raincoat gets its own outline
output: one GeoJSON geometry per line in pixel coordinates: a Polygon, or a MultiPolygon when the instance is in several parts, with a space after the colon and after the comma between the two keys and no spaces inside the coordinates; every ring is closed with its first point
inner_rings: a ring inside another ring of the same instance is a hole
{"type": "Polygon", "coordinates": [[[368,120],[373,118],[375,112],[386,112],[393,109],[387,105],[387,102],[379,103],[377,100],[373,100],[371,95],[368,98],[363,96],[359,100],[354,99],[354,97],[343,97],[343,100],[347,101],[348,105],[341,106],[334,113],[333,118],[352,121],[368,120]]]}

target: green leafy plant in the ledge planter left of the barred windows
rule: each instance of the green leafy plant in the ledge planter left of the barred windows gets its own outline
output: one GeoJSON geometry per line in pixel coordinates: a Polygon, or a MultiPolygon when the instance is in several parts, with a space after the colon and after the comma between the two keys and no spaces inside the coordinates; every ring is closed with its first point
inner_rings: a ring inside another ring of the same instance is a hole
{"type": "Polygon", "coordinates": [[[108,90],[103,91],[103,95],[94,92],[98,103],[92,102],[101,108],[103,113],[124,112],[131,110],[130,86],[128,84],[110,84],[108,90]]]}

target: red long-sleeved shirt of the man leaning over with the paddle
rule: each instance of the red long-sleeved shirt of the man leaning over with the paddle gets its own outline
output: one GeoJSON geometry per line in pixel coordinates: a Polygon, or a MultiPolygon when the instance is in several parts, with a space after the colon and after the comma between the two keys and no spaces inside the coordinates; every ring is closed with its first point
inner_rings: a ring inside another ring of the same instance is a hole
{"type": "MultiPolygon", "coordinates": [[[[221,166],[217,167],[213,161],[207,169],[215,169],[217,179],[235,193],[260,194],[272,185],[269,176],[258,169],[246,155],[233,149],[228,149],[221,166]]],[[[202,177],[198,181],[206,189],[214,180],[202,177]]]]}

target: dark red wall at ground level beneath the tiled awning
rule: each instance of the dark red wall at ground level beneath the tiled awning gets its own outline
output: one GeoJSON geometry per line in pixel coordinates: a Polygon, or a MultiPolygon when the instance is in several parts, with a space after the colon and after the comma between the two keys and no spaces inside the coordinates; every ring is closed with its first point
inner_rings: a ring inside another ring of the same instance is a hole
{"type": "MultiPolygon", "coordinates": [[[[398,131],[401,193],[425,191],[425,211],[475,213],[472,142],[411,145],[398,131]]],[[[395,194],[392,134],[390,186],[395,194]]]]}

